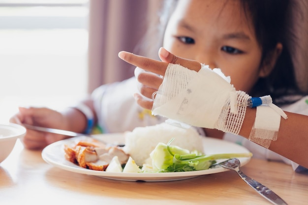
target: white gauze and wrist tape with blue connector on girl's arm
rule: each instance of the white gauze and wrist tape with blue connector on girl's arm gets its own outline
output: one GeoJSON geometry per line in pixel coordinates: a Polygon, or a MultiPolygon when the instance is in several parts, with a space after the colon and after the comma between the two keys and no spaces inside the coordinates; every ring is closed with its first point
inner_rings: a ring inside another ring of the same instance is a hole
{"type": "Polygon", "coordinates": [[[272,103],[271,96],[251,98],[236,91],[230,81],[220,69],[207,65],[195,72],[169,64],[163,83],[154,93],[152,113],[175,122],[239,134],[247,106],[258,106],[249,140],[268,148],[277,140],[280,117],[287,116],[272,103]]]}

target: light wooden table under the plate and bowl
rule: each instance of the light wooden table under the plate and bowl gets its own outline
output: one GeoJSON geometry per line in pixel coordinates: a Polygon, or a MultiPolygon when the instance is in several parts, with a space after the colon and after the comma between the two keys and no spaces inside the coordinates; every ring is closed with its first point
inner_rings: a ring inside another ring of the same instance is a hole
{"type": "MultiPolygon", "coordinates": [[[[242,171],[271,188],[288,205],[307,205],[308,174],[288,165],[252,159],[242,171]]],[[[47,164],[41,151],[17,141],[0,164],[1,205],[270,205],[235,172],[169,182],[129,182],[72,173],[47,164]]]]}

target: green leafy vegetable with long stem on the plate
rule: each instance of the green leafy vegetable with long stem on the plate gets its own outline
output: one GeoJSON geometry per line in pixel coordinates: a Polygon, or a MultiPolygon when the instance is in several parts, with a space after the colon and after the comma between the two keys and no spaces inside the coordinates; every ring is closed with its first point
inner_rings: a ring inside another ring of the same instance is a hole
{"type": "Polygon", "coordinates": [[[172,138],[168,144],[159,143],[151,152],[152,166],[157,172],[187,172],[207,170],[218,159],[230,159],[233,157],[251,157],[251,153],[226,153],[209,154],[190,152],[179,146],[171,146],[172,138]]]}

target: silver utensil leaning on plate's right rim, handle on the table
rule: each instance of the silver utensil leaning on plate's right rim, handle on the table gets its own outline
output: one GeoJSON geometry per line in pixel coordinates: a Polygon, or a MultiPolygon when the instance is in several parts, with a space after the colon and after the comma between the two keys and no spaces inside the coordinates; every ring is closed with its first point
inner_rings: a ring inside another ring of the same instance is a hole
{"type": "Polygon", "coordinates": [[[217,165],[228,169],[235,171],[238,173],[239,176],[244,179],[244,181],[251,186],[255,191],[257,191],[261,196],[263,196],[265,199],[273,203],[274,205],[287,205],[277,194],[275,194],[271,189],[267,188],[266,186],[262,185],[261,183],[257,182],[256,180],[250,178],[249,176],[246,176],[241,170],[240,170],[240,160],[237,158],[232,158],[229,160],[226,160],[224,162],[220,162],[217,165]]]}

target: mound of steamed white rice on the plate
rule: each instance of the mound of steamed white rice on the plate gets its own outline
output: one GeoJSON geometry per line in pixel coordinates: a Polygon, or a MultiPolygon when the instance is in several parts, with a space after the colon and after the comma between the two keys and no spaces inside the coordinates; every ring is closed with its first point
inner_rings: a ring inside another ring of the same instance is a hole
{"type": "Polygon", "coordinates": [[[180,146],[189,151],[204,152],[202,136],[194,128],[184,129],[167,123],[136,127],[132,132],[125,132],[123,150],[135,160],[138,166],[142,166],[158,143],[167,144],[172,138],[175,139],[171,145],[180,146]]]}

